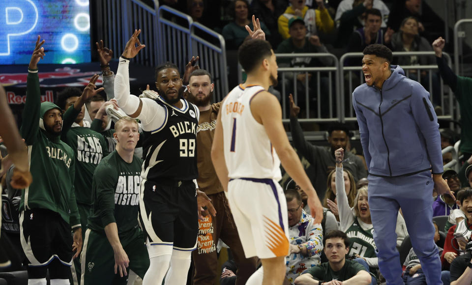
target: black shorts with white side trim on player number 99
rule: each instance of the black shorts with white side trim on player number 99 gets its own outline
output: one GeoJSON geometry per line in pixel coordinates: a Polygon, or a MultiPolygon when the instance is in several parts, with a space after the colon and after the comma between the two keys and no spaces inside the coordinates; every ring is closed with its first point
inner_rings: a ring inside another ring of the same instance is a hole
{"type": "Polygon", "coordinates": [[[196,249],[198,212],[193,181],[143,179],[139,209],[149,245],[169,245],[182,251],[196,249]]]}

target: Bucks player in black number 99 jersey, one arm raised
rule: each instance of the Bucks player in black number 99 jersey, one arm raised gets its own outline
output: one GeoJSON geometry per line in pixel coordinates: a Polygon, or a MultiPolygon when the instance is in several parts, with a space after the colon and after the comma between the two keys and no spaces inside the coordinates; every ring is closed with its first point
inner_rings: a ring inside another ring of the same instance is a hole
{"type": "Polygon", "coordinates": [[[170,62],[156,68],[157,99],[130,94],[129,60],[145,47],[138,39],[140,33],[134,31],[119,59],[115,98],[121,110],[141,120],[146,137],[139,210],[150,264],[143,285],[161,284],[166,273],[165,284],[183,285],[197,245],[198,206],[213,209],[193,181],[198,176],[199,110],[180,98],[182,80],[170,62]]]}

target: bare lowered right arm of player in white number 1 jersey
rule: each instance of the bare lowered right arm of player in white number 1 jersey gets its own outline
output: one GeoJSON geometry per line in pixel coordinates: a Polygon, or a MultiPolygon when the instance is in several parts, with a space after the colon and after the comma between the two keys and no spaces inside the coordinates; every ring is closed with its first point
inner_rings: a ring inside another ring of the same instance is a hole
{"type": "Polygon", "coordinates": [[[323,206],[301,165],[298,155],[292,145],[290,145],[282,124],[282,108],[279,101],[274,95],[263,91],[253,97],[251,112],[254,118],[258,121],[260,120],[264,125],[267,136],[274,146],[284,169],[308,195],[308,205],[310,206],[315,223],[321,223],[323,219],[323,206]],[[267,112],[267,110],[270,110],[270,112],[267,112]]]}

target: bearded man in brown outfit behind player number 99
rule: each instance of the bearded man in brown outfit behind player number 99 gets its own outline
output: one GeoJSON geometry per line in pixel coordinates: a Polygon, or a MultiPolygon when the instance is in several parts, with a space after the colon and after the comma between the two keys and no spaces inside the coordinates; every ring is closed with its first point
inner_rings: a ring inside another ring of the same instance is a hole
{"type": "Polygon", "coordinates": [[[200,110],[197,127],[197,182],[199,189],[207,194],[216,209],[215,217],[207,215],[203,221],[199,221],[198,246],[192,253],[194,285],[212,285],[215,277],[220,275],[216,255],[216,245],[220,238],[231,248],[238,267],[236,285],[242,285],[246,284],[256,270],[257,258],[244,256],[228,200],[211,162],[211,144],[221,105],[221,102],[210,104],[213,90],[214,84],[211,83],[211,75],[207,70],[196,69],[190,74],[186,92],[188,101],[200,110]]]}

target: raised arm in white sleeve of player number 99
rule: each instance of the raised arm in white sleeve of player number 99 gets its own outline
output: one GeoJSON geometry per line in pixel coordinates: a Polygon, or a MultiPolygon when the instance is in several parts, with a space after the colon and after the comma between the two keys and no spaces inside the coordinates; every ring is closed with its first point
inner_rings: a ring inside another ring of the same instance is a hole
{"type": "Polygon", "coordinates": [[[115,76],[115,98],[118,106],[130,117],[136,118],[141,114],[143,102],[140,98],[132,96],[129,90],[129,60],[141,51],[142,45],[138,39],[141,29],[134,30],[133,35],[126,43],[123,53],[119,58],[117,75],[115,76]]]}

